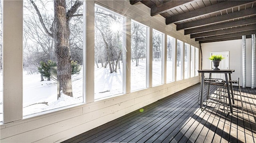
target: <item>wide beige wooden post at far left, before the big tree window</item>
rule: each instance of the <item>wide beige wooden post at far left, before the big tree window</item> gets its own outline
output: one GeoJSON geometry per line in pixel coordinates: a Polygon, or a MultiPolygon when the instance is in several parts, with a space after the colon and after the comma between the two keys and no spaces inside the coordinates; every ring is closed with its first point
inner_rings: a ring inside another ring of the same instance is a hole
{"type": "Polygon", "coordinates": [[[22,119],[23,0],[3,0],[3,122],[22,119]]]}

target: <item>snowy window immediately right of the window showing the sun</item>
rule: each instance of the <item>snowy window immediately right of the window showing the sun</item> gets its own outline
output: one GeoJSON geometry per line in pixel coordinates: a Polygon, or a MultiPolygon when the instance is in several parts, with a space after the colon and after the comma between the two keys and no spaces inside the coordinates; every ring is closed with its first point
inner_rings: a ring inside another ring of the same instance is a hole
{"type": "Polygon", "coordinates": [[[148,27],[132,20],[131,25],[131,91],[146,88],[148,27]]]}

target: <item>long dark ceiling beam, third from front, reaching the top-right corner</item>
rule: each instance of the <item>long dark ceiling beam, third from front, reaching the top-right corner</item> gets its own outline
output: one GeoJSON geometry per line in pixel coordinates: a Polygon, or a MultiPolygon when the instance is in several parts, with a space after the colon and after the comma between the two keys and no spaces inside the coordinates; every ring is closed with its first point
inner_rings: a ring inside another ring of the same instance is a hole
{"type": "Polygon", "coordinates": [[[252,0],[235,0],[234,1],[234,0],[231,0],[231,1],[220,2],[218,4],[200,8],[198,10],[193,10],[190,12],[186,12],[184,14],[179,14],[177,16],[171,16],[170,18],[166,18],[166,24],[173,24],[173,23],[182,22],[184,20],[188,20],[191,18],[198,18],[200,16],[205,16],[207,14],[213,14],[216,12],[228,10],[228,9],[242,6],[245,4],[251,4],[253,2],[256,2],[256,1],[252,1],[252,0]]]}

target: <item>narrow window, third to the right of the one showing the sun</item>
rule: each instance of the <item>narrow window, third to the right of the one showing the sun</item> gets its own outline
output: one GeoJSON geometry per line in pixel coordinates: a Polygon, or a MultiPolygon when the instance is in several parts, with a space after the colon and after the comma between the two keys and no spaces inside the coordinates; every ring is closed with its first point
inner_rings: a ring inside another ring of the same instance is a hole
{"type": "Polygon", "coordinates": [[[167,63],[166,63],[166,82],[175,80],[175,41],[176,39],[167,35],[167,63]]]}

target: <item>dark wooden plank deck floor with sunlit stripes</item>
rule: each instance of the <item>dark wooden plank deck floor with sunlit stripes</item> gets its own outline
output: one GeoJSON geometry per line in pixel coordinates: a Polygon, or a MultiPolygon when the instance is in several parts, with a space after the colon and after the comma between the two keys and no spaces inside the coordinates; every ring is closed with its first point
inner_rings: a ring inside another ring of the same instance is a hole
{"type": "Polygon", "coordinates": [[[220,108],[200,110],[199,88],[186,88],[63,143],[256,142],[256,89],[241,88],[244,112],[235,96],[234,113],[226,117],[220,108]]]}

